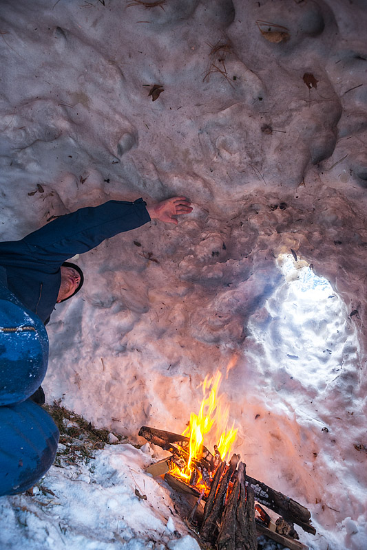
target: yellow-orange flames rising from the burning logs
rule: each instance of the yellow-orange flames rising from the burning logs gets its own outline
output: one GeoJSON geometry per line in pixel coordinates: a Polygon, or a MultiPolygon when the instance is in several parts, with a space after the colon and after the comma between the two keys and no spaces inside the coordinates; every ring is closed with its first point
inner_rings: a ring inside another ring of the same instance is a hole
{"type": "MultiPolygon", "coordinates": [[[[233,361],[230,362],[229,369],[233,366],[233,361]]],[[[213,377],[205,377],[202,383],[203,399],[200,405],[198,415],[191,412],[188,428],[182,435],[190,438],[189,443],[189,459],[183,470],[179,467],[174,467],[171,474],[183,478],[187,483],[190,482],[193,471],[195,470],[195,462],[199,461],[202,456],[205,436],[215,441],[218,445],[218,451],[222,460],[224,460],[231,452],[231,447],[235,441],[235,436],[238,430],[227,428],[229,421],[229,406],[222,404],[223,395],[218,395],[222,375],[218,371],[213,377]],[[213,432],[215,431],[215,436],[213,432]]],[[[200,490],[206,485],[203,484],[201,476],[196,481],[196,487],[200,490]]]]}

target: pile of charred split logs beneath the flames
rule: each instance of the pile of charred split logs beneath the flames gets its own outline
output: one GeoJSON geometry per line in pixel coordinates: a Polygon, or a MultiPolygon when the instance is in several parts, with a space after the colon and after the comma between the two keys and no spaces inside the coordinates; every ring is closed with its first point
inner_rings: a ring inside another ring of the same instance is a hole
{"type": "Polygon", "coordinates": [[[167,459],[152,464],[147,471],[153,476],[164,474],[171,487],[197,496],[191,520],[199,515],[200,503],[205,502],[198,527],[202,540],[218,550],[256,550],[258,536],[265,535],[291,550],[306,550],[307,547],[297,540],[294,524],[308,533],[316,533],[308,509],[247,475],[246,465],[240,461],[239,454],[233,454],[226,463],[218,456],[217,450],[213,456],[204,447],[191,478],[186,482],[171,472],[174,472],[175,465],[182,469],[187,463],[189,438],[147,426],[140,428],[139,435],[171,453],[167,459]],[[199,477],[200,485],[197,484],[199,477]],[[279,516],[276,521],[263,506],[275,511],[279,516]]]}

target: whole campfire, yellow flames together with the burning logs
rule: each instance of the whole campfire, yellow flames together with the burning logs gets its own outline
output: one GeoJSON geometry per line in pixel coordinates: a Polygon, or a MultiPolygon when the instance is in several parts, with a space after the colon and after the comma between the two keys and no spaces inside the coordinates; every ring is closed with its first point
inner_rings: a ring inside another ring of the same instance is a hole
{"type": "Polygon", "coordinates": [[[189,519],[199,525],[200,538],[218,550],[255,550],[261,534],[291,550],[306,550],[296,540],[299,536],[294,523],[315,534],[308,509],[250,477],[240,455],[231,454],[238,430],[229,428],[229,407],[218,395],[220,381],[219,372],[205,378],[198,415],[191,412],[189,426],[182,434],[140,428],[140,436],[170,452],[167,459],[152,464],[147,471],[165,476],[174,489],[197,497],[189,519]],[[204,445],[205,439],[218,442],[213,445],[213,454],[204,445]]]}

